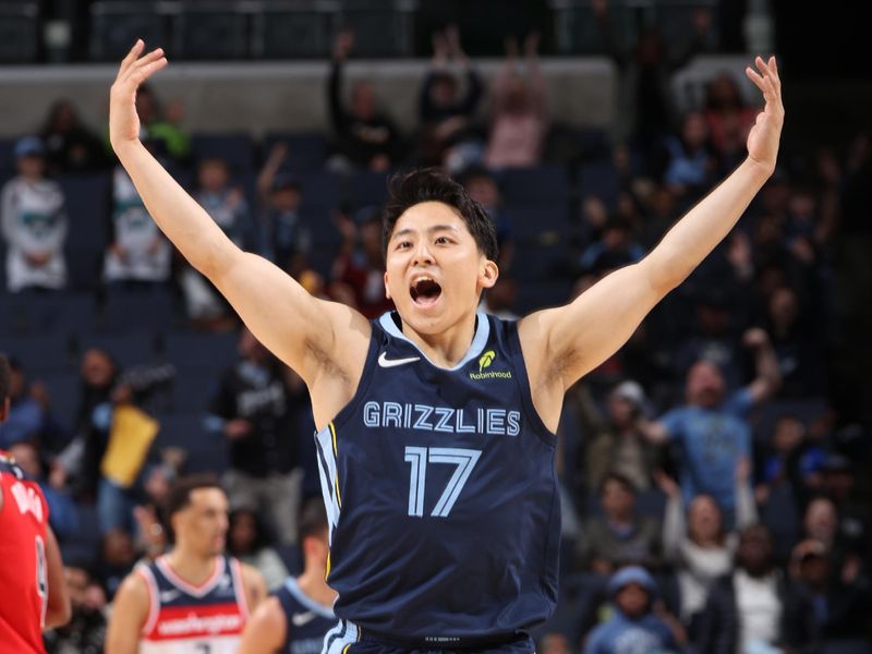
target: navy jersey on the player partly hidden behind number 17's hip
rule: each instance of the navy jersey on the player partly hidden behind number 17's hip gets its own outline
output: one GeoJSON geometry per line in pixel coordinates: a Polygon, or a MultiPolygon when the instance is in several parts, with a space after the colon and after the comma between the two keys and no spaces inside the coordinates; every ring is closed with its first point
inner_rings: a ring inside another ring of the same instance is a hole
{"type": "Polygon", "coordinates": [[[288,579],[275,592],[284,611],[284,644],[281,654],[320,654],[324,634],[336,627],[336,616],[300,589],[295,579],[288,579]]]}

